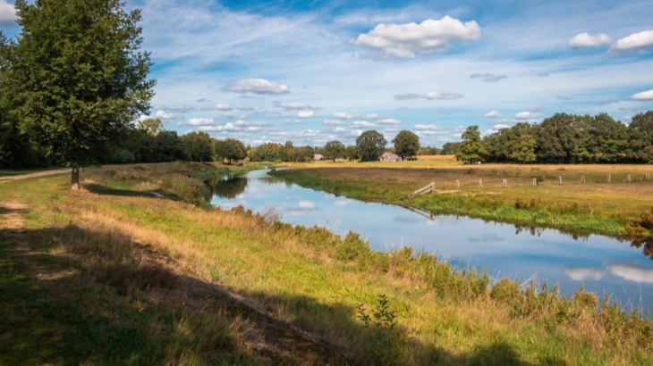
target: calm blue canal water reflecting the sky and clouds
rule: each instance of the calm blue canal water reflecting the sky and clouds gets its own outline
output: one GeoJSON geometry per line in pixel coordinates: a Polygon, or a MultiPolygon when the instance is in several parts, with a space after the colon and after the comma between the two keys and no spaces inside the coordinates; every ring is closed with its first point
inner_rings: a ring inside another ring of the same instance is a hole
{"type": "Polygon", "coordinates": [[[437,253],[453,264],[488,268],[495,278],[535,278],[559,284],[562,293],[583,285],[610,295],[623,309],[653,310],[653,245],[613,237],[578,237],[555,229],[522,229],[452,215],[425,217],[400,206],[365,203],[297,186],[250,171],[214,182],[211,204],[223,209],[243,205],[260,212],[276,206],[282,221],[318,225],[343,234],[360,233],[374,249],[410,245],[437,253]],[[638,247],[639,246],[639,247],[638,247]]]}

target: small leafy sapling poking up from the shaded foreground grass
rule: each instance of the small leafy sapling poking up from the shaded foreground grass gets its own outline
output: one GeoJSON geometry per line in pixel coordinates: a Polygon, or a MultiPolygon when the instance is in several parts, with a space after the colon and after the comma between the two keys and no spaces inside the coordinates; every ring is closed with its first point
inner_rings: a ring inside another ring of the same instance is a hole
{"type": "Polygon", "coordinates": [[[379,295],[377,306],[368,314],[362,304],[358,319],[367,329],[365,341],[371,361],[375,365],[395,365],[408,347],[408,337],[397,328],[397,316],[390,311],[386,295],[379,295]]]}

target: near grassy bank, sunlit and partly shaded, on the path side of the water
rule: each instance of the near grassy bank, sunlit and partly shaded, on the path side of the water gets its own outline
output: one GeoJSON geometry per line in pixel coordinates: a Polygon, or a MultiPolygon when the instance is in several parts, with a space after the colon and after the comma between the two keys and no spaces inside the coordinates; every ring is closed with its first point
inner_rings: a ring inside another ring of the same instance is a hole
{"type": "Polygon", "coordinates": [[[67,177],[0,186],[0,214],[13,215],[0,231],[0,312],[11,314],[0,319],[0,363],[653,362],[650,321],[594,295],[494,283],[410,248],[372,251],[354,233],[149,193],[182,198],[165,182],[197,167],[112,171],[86,172],[78,192],[67,177]],[[259,315],[221,303],[216,286],[259,315]],[[382,324],[393,327],[370,329],[357,316],[378,295],[396,315],[382,324]],[[268,332],[263,313],[318,341],[268,332]]]}

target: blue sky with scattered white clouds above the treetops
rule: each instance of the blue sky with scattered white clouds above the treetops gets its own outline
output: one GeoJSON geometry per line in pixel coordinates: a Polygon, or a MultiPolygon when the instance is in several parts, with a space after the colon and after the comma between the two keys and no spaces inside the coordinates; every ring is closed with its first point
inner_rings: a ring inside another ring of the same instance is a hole
{"type": "MultiPolygon", "coordinates": [[[[155,63],[148,116],[258,146],[422,146],[556,112],[653,108],[649,1],[127,1],[155,63]]],[[[13,37],[13,1],[0,30],[13,37]]],[[[147,118],[141,116],[140,119],[147,118]]]]}

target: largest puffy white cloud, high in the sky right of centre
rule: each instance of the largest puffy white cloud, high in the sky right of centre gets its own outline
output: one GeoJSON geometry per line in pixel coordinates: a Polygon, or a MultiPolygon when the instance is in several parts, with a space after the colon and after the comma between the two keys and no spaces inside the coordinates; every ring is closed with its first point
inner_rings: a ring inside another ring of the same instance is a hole
{"type": "Polygon", "coordinates": [[[476,21],[463,23],[447,15],[439,21],[428,19],[420,24],[378,24],[349,43],[371,48],[382,58],[415,58],[417,54],[444,51],[454,41],[474,41],[479,38],[480,27],[476,21]]]}

